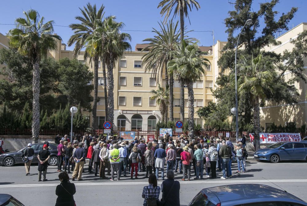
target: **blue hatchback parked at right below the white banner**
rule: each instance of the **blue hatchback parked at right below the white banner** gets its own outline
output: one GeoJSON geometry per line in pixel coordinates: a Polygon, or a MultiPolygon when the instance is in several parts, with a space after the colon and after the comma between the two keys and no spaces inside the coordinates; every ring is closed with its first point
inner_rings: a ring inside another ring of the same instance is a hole
{"type": "Polygon", "coordinates": [[[278,142],[255,152],[254,158],[277,163],[282,160],[306,160],[307,143],[278,142]]]}

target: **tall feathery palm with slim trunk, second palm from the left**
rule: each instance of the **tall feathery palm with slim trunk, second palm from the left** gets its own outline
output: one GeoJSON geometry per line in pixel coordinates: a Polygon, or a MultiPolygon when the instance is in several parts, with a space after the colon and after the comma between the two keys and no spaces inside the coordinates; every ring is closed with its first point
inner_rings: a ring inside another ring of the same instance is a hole
{"type": "Polygon", "coordinates": [[[102,44],[96,40],[99,36],[95,30],[102,24],[104,16],[104,6],[101,5],[99,10],[96,9],[96,4],[93,6],[87,3],[83,9],[79,8],[82,16],[75,17],[81,23],[71,24],[69,27],[74,31],[74,34],[68,40],[68,46],[75,44],[73,55],[78,57],[82,48],[85,47],[84,61],[87,59],[90,62],[94,61],[94,97],[92,106],[92,127],[97,129],[96,110],[97,110],[97,95],[98,95],[98,64],[99,57],[102,53],[102,44]]]}

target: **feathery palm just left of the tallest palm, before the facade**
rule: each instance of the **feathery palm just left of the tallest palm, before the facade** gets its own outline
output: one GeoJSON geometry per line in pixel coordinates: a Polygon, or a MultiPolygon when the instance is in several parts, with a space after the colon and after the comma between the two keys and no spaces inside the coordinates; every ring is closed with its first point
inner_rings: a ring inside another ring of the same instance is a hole
{"type": "MultiPolygon", "coordinates": [[[[145,72],[151,72],[156,79],[162,79],[163,68],[165,68],[165,86],[168,86],[167,62],[172,59],[173,54],[178,48],[180,42],[180,34],[177,31],[178,21],[174,24],[169,21],[168,24],[160,24],[160,29],[154,29],[153,38],[147,38],[143,41],[149,42],[149,45],[142,51],[149,51],[143,57],[145,72]]],[[[173,74],[169,73],[169,121],[173,121],[173,74]]],[[[167,119],[167,113],[165,113],[167,119]]],[[[165,117],[163,117],[165,119],[165,117]]]]}

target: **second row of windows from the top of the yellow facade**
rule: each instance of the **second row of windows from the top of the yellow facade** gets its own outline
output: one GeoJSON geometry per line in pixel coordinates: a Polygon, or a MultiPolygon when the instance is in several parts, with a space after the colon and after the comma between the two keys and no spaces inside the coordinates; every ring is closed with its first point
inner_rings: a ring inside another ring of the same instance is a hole
{"type": "MultiPolygon", "coordinates": [[[[143,86],[143,78],[142,77],[133,77],[133,86],[143,86]]],[[[98,77],[98,85],[104,86],[104,81],[103,77],[98,77]]],[[[120,76],[119,77],[119,86],[127,86],[127,77],[125,76],[120,76]]],[[[150,87],[156,87],[157,86],[157,80],[156,78],[149,77],[149,86],[150,87]]],[[[165,87],[165,79],[162,80],[162,87],[165,87]]],[[[179,88],[179,81],[174,80],[174,85],[173,87],[179,88]]],[[[184,85],[184,87],[187,87],[184,85]]],[[[204,88],[204,83],[203,80],[199,80],[194,82],[193,88],[204,88]]],[[[206,80],[205,81],[205,88],[213,88],[213,81],[212,80],[206,80]]]]}

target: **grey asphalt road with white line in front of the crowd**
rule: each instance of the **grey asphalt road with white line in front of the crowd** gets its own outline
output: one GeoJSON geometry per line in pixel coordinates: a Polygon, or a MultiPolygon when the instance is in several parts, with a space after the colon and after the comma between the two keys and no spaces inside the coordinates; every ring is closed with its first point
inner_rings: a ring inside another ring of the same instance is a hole
{"type": "MultiPolygon", "coordinates": [[[[247,161],[247,173],[240,177],[233,175],[231,179],[222,180],[221,174],[217,179],[205,179],[199,181],[181,181],[181,174],[175,175],[180,181],[180,203],[188,204],[192,198],[203,188],[227,184],[264,184],[285,189],[287,192],[307,201],[305,186],[306,162],[281,162],[277,164],[269,162],[247,161]],[[276,185],[274,185],[273,183],[276,185]]],[[[100,180],[93,173],[87,173],[88,164],[85,165],[83,181],[74,181],[76,194],[74,196],[76,205],[142,205],[142,189],[148,185],[144,173],[140,173],[138,180],[130,177],[122,177],[120,181],[100,180]]],[[[235,164],[232,171],[236,171],[235,164]]],[[[46,182],[37,181],[37,164],[33,164],[31,175],[25,176],[25,168],[22,165],[13,167],[0,167],[0,193],[13,195],[26,206],[55,205],[56,185],[60,183],[57,178],[56,167],[48,167],[46,182]]],[[[71,174],[70,174],[71,177],[71,174]]],[[[195,176],[192,176],[192,178],[195,176]]],[[[162,181],[158,181],[161,185],[162,181]]],[[[161,194],[160,194],[161,198],[161,194]]]]}

